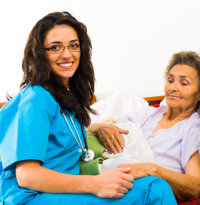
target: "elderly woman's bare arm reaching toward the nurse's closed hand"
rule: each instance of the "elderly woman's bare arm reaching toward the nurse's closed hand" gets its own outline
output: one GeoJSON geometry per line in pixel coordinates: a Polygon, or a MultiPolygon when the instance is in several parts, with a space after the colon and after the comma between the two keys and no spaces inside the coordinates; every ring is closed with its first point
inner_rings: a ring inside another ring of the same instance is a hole
{"type": "Polygon", "coordinates": [[[134,178],[157,176],[165,179],[178,200],[192,200],[200,196],[200,155],[195,152],[187,163],[185,174],[167,170],[152,163],[120,165],[131,167],[134,178]]]}

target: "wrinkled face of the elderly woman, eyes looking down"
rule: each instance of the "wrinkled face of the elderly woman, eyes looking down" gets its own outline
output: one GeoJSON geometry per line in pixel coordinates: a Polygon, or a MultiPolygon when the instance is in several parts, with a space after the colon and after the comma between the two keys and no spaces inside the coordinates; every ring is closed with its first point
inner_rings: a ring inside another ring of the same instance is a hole
{"type": "Polygon", "coordinates": [[[166,76],[165,96],[169,108],[194,112],[200,99],[197,70],[188,65],[175,65],[166,76]]]}

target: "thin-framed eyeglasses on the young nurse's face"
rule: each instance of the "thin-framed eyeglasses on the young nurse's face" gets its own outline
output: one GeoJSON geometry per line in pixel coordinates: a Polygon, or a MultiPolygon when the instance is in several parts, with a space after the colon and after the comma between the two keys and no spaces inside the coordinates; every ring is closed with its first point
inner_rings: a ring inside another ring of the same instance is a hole
{"type": "Polygon", "coordinates": [[[62,53],[65,50],[65,48],[69,49],[70,52],[80,52],[81,51],[80,44],[78,43],[71,44],[69,46],[64,46],[62,44],[56,44],[56,45],[52,45],[44,49],[49,51],[52,54],[58,54],[58,53],[62,53]]]}

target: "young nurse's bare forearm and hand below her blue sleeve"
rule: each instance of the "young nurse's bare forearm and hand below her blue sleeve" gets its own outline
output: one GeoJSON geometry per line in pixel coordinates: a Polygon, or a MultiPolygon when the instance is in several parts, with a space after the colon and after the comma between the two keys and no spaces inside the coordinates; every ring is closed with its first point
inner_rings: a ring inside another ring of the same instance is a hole
{"type": "Polygon", "coordinates": [[[97,176],[69,175],[40,166],[41,162],[27,160],[16,166],[20,187],[49,193],[91,193],[99,197],[120,198],[132,188],[130,168],[116,168],[97,176]]]}

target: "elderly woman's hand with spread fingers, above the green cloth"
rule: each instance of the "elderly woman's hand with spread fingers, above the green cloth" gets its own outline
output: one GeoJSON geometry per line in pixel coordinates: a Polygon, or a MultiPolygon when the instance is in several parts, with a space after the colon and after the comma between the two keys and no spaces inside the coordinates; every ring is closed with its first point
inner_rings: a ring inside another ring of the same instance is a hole
{"type": "Polygon", "coordinates": [[[88,135],[95,135],[110,153],[123,151],[124,139],[121,134],[128,134],[128,130],[122,130],[119,127],[110,124],[111,120],[105,120],[101,123],[94,123],[88,127],[88,135]],[[108,124],[109,122],[109,124],[108,124]]]}

